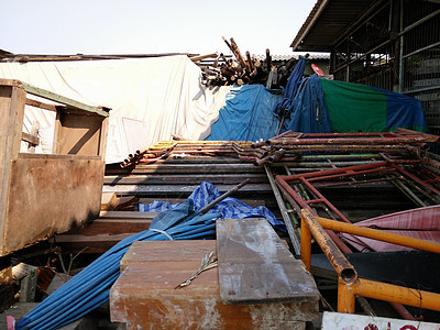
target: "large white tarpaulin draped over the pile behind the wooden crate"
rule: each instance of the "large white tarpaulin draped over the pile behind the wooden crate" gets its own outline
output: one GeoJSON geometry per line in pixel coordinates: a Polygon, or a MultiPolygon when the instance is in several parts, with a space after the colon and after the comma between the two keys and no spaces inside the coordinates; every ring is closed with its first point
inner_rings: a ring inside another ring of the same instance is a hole
{"type": "MultiPolygon", "coordinates": [[[[172,134],[188,140],[207,138],[229,87],[207,89],[200,85],[200,68],[183,55],[0,64],[1,78],[111,108],[107,163],[121,162],[128,153],[170,140],[172,134]]],[[[53,113],[34,109],[33,114],[26,109],[28,125],[37,120],[42,132],[50,130],[53,113]]]]}

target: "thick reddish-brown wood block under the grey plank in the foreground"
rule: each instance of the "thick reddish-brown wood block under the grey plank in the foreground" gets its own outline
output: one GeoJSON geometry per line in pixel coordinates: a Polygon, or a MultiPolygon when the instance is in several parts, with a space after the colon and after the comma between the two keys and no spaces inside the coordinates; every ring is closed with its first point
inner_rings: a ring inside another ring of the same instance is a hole
{"type": "Polygon", "coordinates": [[[127,329],[305,329],[318,304],[223,305],[217,268],[175,287],[200,266],[216,241],[136,242],[110,292],[111,320],[127,329]]]}

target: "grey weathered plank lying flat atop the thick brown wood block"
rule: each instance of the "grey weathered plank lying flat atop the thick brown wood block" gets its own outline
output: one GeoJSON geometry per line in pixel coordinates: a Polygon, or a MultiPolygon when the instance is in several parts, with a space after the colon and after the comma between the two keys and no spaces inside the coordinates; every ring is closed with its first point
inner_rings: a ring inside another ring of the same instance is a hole
{"type": "Polygon", "coordinates": [[[217,220],[224,304],[318,301],[311,275],[264,218],[217,220]]]}

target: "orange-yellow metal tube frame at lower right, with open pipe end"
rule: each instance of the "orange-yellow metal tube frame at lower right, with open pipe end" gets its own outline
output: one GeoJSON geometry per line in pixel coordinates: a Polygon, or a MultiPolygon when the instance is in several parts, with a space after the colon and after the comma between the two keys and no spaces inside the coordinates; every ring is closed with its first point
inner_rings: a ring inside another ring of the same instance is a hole
{"type": "Polygon", "coordinates": [[[306,268],[310,271],[311,237],[314,237],[338,274],[339,312],[353,314],[356,295],[440,311],[440,294],[360,278],[354,267],[327,234],[326,229],[435,253],[440,253],[440,244],[320,218],[314,215],[311,210],[302,209],[300,242],[301,260],[306,268]]]}

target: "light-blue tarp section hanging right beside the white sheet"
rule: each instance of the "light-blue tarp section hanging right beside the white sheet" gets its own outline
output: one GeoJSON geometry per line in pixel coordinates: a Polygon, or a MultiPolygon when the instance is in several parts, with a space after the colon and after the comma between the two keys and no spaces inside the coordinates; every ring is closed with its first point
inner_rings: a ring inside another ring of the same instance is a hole
{"type": "Polygon", "coordinates": [[[232,87],[206,140],[257,141],[275,136],[279,119],[272,111],[282,98],[262,85],[232,87]]]}

